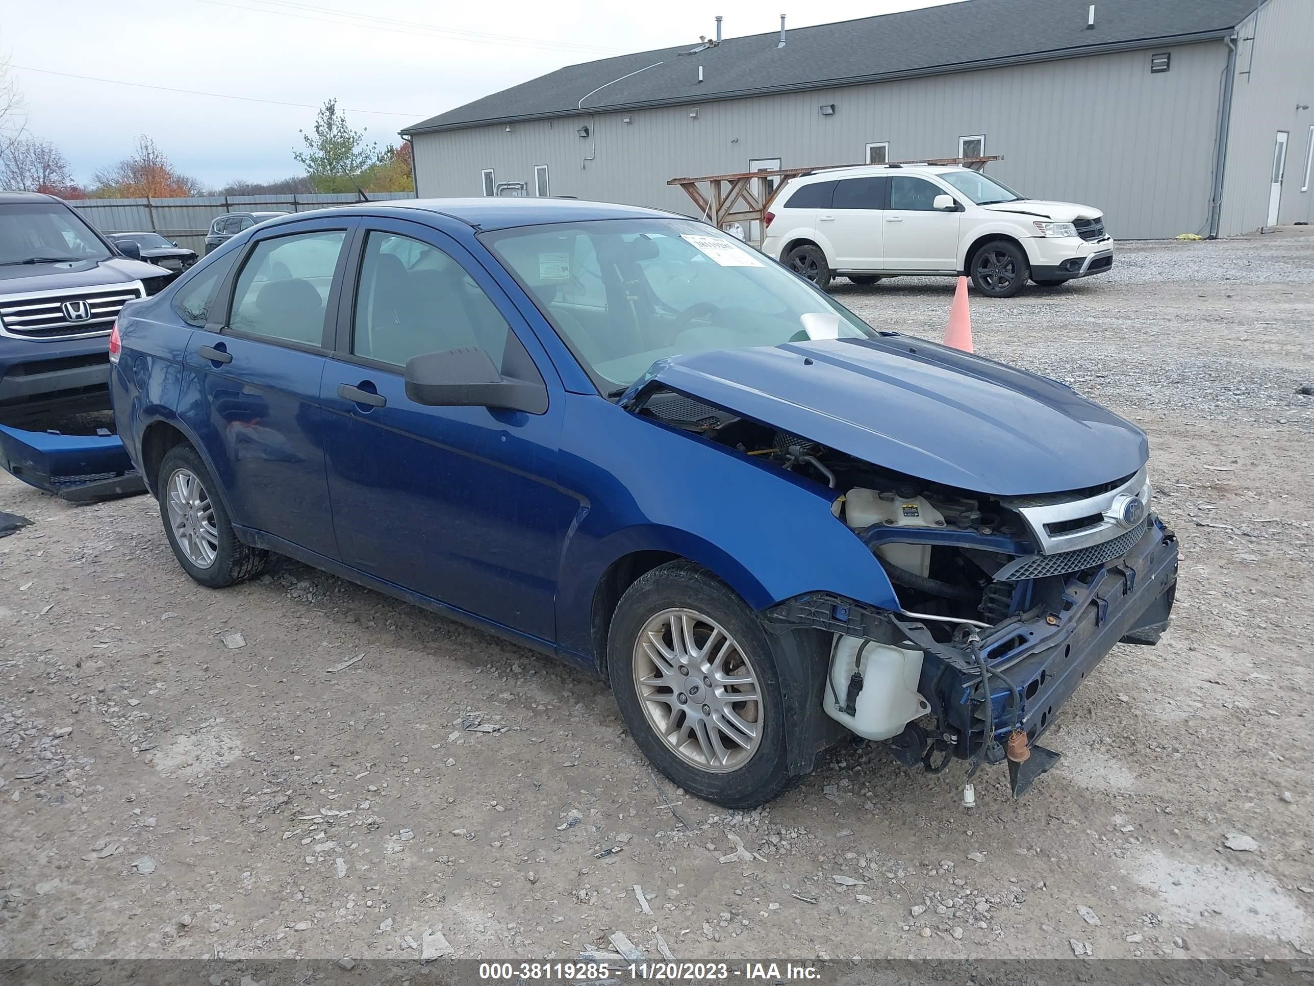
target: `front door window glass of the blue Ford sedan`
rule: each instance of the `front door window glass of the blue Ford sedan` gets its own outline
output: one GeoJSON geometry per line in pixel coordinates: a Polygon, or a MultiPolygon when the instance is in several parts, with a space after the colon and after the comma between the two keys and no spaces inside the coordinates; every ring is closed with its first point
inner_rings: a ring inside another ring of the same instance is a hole
{"type": "Polygon", "coordinates": [[[373,230],[356,283],[351,351],[406,365],[411,356],[476,346],[502,365],[511,331],[465,268],[438,247],[373,230]]]}

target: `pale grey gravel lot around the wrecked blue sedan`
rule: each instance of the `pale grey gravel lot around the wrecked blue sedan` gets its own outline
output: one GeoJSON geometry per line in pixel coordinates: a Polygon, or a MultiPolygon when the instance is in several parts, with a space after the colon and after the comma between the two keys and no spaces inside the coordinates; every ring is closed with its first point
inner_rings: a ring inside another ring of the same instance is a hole
{"type": "MultiPolygon", "coordinates": [[[[836,294],[938,337],[951,289],[836,294]]],[[[1309,956],[1314,237],[1125,245],[972,319],[1148,430],[1183,543],[1172,630],[1022,802],[853,747],[725,812],[582,673],[297,565],[201,589],[154,501],[3,476],[34,523],[0,540],[0,956],[1309,956]]]]}

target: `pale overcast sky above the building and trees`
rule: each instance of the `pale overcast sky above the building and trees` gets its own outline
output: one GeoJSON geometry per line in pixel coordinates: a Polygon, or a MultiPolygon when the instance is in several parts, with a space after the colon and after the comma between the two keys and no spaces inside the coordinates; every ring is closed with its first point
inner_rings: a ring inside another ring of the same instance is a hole
{"type": "Polygon", "coordinates": [[[0,54],[22,88],[29,130],[54,141],[80,181],[145,133],[180,171],[219,187],[298,174],[297,129],[310,129],[327,97],[371,138],[397,142],[402,126],[565,64],[696,42],[715,33],[715,13],[735,37],[777,30],[781,13],[802,28],[942,1],[0,0],[0,54]]]}

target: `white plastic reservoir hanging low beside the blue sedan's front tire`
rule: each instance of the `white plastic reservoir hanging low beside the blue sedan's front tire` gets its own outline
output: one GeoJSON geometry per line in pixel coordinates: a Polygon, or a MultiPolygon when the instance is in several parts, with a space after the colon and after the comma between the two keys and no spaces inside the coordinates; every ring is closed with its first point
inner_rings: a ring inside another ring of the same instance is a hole
{"type": "Polygon", "coordinates": [[[827,715],[871,740],[890,739],[930,706],[917,693],[921,656],[911,642],[897,647],[841,636],[830,657],[827,715]],[[855,678],[854,674],[861,677],[855,678]],[[838,698],[836,698],[838,695],[838,698]],[[846,707],[851,699],[853,713],[846,707]]]}

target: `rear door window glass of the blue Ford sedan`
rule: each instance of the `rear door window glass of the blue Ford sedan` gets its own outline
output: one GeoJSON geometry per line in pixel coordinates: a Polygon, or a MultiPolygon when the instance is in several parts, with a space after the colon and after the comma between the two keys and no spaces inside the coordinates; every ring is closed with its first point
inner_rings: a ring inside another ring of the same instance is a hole
{"type": "Polygon", "coordinates": [[[346,238],[342,230],[317,230],[260,241],[238,275],[229,326],[322,346],[328,289],[346,238]]]}

